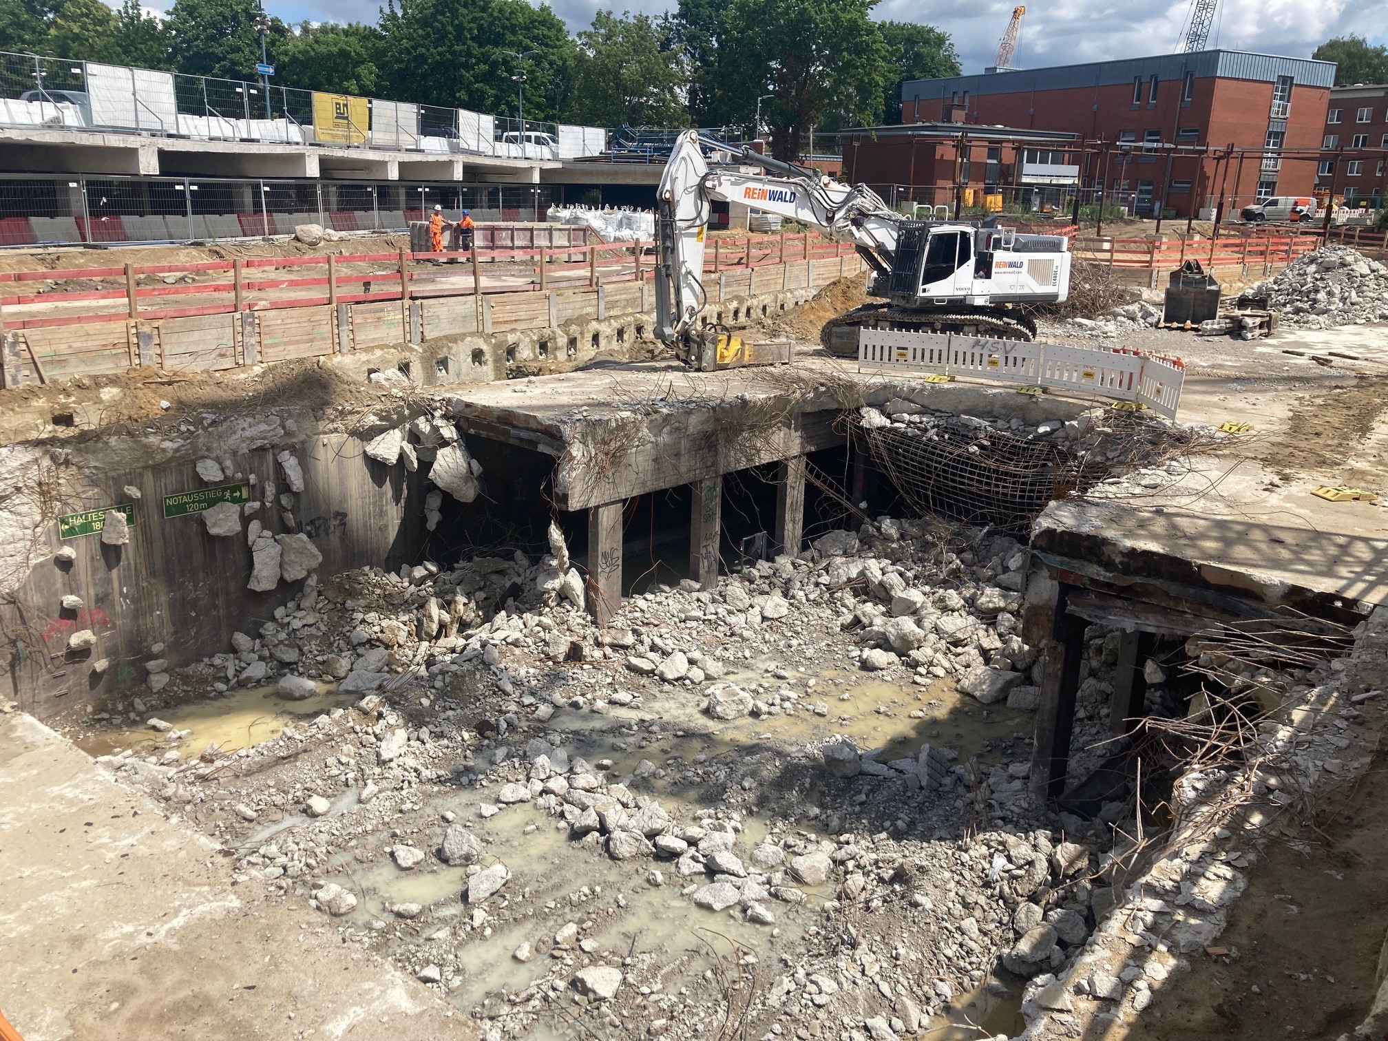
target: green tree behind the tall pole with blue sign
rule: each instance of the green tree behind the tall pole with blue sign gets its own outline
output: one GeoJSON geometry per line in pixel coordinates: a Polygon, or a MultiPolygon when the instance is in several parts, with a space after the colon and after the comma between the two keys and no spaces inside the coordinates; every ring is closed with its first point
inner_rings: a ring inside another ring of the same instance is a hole
{"type": "MultiPolygon", "coordinates": [[[[198,76],[254,79],[261,56],[258,15],[255,0],[174,0],[168,17],[174,67],[198,76]]],[[[271,61],[287,37],[285,24],[271,18],[271,61]]]]}

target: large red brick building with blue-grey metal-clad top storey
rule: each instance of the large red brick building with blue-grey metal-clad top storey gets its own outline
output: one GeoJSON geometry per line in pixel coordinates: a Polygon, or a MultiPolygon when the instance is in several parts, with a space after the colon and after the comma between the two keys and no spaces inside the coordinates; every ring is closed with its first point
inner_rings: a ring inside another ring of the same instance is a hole
{"type": "MultiPolygon", "coordinates": [[[[1140,212],[1165,205],[1184,217],[1212,208],[1221,186],[1226,210],[1310,194],[1334,81],[1334,62],[1208,50],[909,81],[902,119],[1073,135],[1078,144],[1067,154],[1087,194],[1102,187],[1140,212]],[[1234,157],[1220,162],[1216,150],[1230,144],[1234,157]]],[[[886,130],[876,129],[877,140],[886,130]]],[[[856,165],[844,155],[854,180],[897,180],[887,176],[901,169],[890,147],[861,149],[856,165]]]]}

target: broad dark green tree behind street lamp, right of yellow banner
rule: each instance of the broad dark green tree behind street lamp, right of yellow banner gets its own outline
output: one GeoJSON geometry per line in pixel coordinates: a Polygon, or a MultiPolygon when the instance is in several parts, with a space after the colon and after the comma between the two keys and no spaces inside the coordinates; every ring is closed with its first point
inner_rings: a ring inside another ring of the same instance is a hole
{"type": "Polygon", "coordinates": [[[525,61],[525,112],[558,112],[572,40],[548,6],[526,0],[389,0],[380,12],[382,74],[390,97],[502,115],[518,107],[516,60],[525,61]]]}

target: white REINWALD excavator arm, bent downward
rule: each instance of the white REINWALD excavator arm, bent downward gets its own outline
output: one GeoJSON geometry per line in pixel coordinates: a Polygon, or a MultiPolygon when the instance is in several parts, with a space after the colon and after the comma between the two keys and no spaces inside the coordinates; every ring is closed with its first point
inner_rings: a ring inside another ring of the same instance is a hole
{"type": "Polygon", "coordinates": [[[704,239],[712,200],[741,203],[768,214],[823,228],[840,242],[851,242],[877,271],[886,272],[897,250],[901,218],[872,189],[849,187],[815,171],[802,169],[682,133],[670,150],[657,189],[655,336],[682,359],[695,350],[698,315],[704,310],[704,239]],[[741,164],[776,174],[744,174],[729,165],[709,168],[702,147],[730,153],[741,164]]]}

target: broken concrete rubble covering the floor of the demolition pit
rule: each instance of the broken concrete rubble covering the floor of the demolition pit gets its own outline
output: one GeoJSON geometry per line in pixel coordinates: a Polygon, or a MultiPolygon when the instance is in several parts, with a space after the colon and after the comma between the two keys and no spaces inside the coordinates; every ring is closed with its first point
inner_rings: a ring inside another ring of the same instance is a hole
{"type": "MultiPolygon", "coordinates": [[[[269,899],[310,902],[347,941],[441,992],[469,985],[472,945],[489,937],[504,937],[518,963],[548,954],[511,999],[483,1001],[477,1015],[507,1030],[530,1029],[575,994],[602,1008],[658,988],[655,952],[613,954],[604,937],[677,888],[688,927],[731,915],[798,937],[802,956],[776,966],[755,1002],[763,1022],[905,1037],[984,985],[999,959],[1020,976],[1063,970],[1112,902],[1091,877],[1106,829],[1031,801],[1020,731],[985,741],[1001,762],[981,768],[938,737],[902,755],[848,734],[849,694],[826,666],[897,677],[905,706],[933,683],[984,715],[1035,705],[1035,652],[1016,613],[1026,548],[972,530],[941,551],[931,533],[931,522],[886,516],[830,532],[801,558],[748,564],[716,590],[657,586],[607,629],[582,611],[557,527],[540,559],[362,569],[322,587],[310,577],[273,620],[179,670],[158,697],[275,683],[307,698],[336,680],[359,697],[354,706],[193,761],[178,754],[186,731],[151,718],[168,752],[104,762],[236,848],[237,879],[269,899]],[[731,759],[676,740],[777,718],[805,719],[804,736],[731,759]],[[812,783],[822,794],[806,802],[812,783]],[[979,805],[976,837],[951,837],[979,805]],[[536,873],[537,827],[566,843],[562,880],[536,873]],[[387,874],[462,874],[443,901],[364,908],[343,849],[387,874]],[[573,892],[554,890],[570,881],[573,892]],[[861,923],[852,959],[841,956],[841,917],[861,923]]],[[[1090,668],[1099,675],[1108,658],[1090,668]]],[[[924,716],[924,704],[905,706],[874,712],[924,716]]],[[[720,1002],[658,994],[641,1015],[691,1035],[720,1002]]]]}

